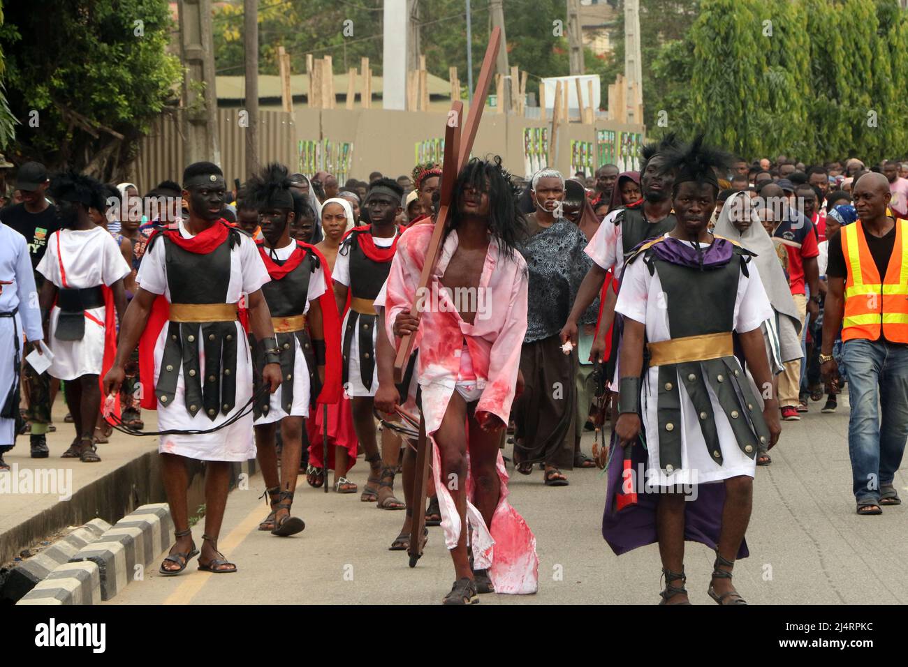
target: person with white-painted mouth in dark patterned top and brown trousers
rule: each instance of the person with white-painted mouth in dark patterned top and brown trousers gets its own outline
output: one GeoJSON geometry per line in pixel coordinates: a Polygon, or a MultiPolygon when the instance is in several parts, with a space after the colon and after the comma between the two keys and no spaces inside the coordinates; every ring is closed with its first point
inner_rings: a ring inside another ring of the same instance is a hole
{"type": "MultiPolygon", "coordinates": [[[[518,246],[527,261],[529,287],[527,333],[520,351],[526,389],[512,409],[514,463],[523,475],[532,472],[533,464],[544,463],[546,486],[568,486],[561,468],[572,470],[575,465],[577,352],[565,354],[558,333],[592,260],[583,251],[587,237],[563,216],[561,173],[536,172],[531,194],[536,211],[527,218],[528,238],[518,246]],[[564,390],[553,391],[556,386],[564,390]]],[[[595,321],[596,310],[583,319],[595,321]]]]}

